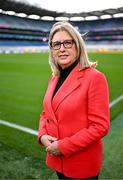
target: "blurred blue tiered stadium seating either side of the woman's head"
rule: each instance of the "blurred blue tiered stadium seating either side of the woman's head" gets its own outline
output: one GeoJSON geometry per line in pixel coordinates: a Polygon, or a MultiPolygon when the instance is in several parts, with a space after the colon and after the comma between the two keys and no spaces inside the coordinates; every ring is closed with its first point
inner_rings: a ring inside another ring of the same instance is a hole
{"type": "MultiPolygon", "coordinates": [[[[49,31],[54,23],[0,14],[0,45],[47,45],[49,31]]],[[[85,39],[87,43],[123,42],[123,18],[71,23],[79,28],[80,33],[89,32],[85,39]]]]}

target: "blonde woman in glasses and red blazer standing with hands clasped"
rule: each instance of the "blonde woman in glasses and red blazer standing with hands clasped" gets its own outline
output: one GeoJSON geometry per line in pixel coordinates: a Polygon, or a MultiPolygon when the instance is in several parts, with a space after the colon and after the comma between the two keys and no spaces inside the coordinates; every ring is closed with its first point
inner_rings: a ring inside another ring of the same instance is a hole
{"type": "Polygon", "coordinates": [[[57,22],[49,36],[53,76],[44,97],[39,142],[59,179],[98,179],[102,138],[109,130],[109,97],[103,73],[88,60],[80,33],[57,22]]]}

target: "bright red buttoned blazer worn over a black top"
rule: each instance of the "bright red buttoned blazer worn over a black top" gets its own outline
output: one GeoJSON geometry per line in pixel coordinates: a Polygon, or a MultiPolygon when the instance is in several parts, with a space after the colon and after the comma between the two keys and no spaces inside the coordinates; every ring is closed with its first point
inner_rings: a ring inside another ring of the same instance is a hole
{"type": "Polygon", "coordinates": [[[62,156],[47,154],[48,167],[72,178],[96,176],[102,166],[102,138],[109,130],[109,97],[105,76],[78,65],[52,99],[58,76],[50,79],[39,123],[39,138],[59,139],[62,156]]]}

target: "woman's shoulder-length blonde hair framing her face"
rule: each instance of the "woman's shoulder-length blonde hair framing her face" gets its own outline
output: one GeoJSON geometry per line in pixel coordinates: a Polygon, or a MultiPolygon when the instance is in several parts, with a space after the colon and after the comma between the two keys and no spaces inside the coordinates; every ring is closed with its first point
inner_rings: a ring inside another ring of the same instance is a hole
{"type": "MultiPolygon", "coordinates": [[[[49,46],[54,34],[58,31],[66,31],[73,38],[78,52],[77,59],[79,61],[80,70],[86,67],[96,67],[96,62],[89,61],[88,54],[85,48],[85,43],[81,34],[74,26],[72,26],[68,22],[57,22],[53,25],[49,35],[49,46]]],[[[58,75],[60,73],[59,67],[58,64],[54,61],[51,51],[49,53],[49,64],[53,75],[58,75]]]]}

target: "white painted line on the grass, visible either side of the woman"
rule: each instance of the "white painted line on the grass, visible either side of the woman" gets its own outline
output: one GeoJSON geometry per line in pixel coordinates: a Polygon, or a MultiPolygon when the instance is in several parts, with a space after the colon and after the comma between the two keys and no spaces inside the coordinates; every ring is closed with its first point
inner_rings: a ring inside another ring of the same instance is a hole
{"type": "MultiPolygon", "coordinates": [[[[113,100],[112,102],[110,102],[109,107],[112,108],[115,104],[117,104],[121,100],[123,100],[123,94],[121,96],[119,96],[118,98],[116,98],[115,100],[113,100]]],[[[31,128],[21,126],[21,125],[17,125],[15,123],[11,123],[11,122],[4,121],[4,120],[0,119],[0,124],[8,126],[8,127],[15,128],[15,129],[18,129],[20,131],[24,131],[24,132],[29,133],[29,134],[33,134],[33,135],[36,135],[36,136],[38,135],[38,131],[33,130],[31,128]]]]}

